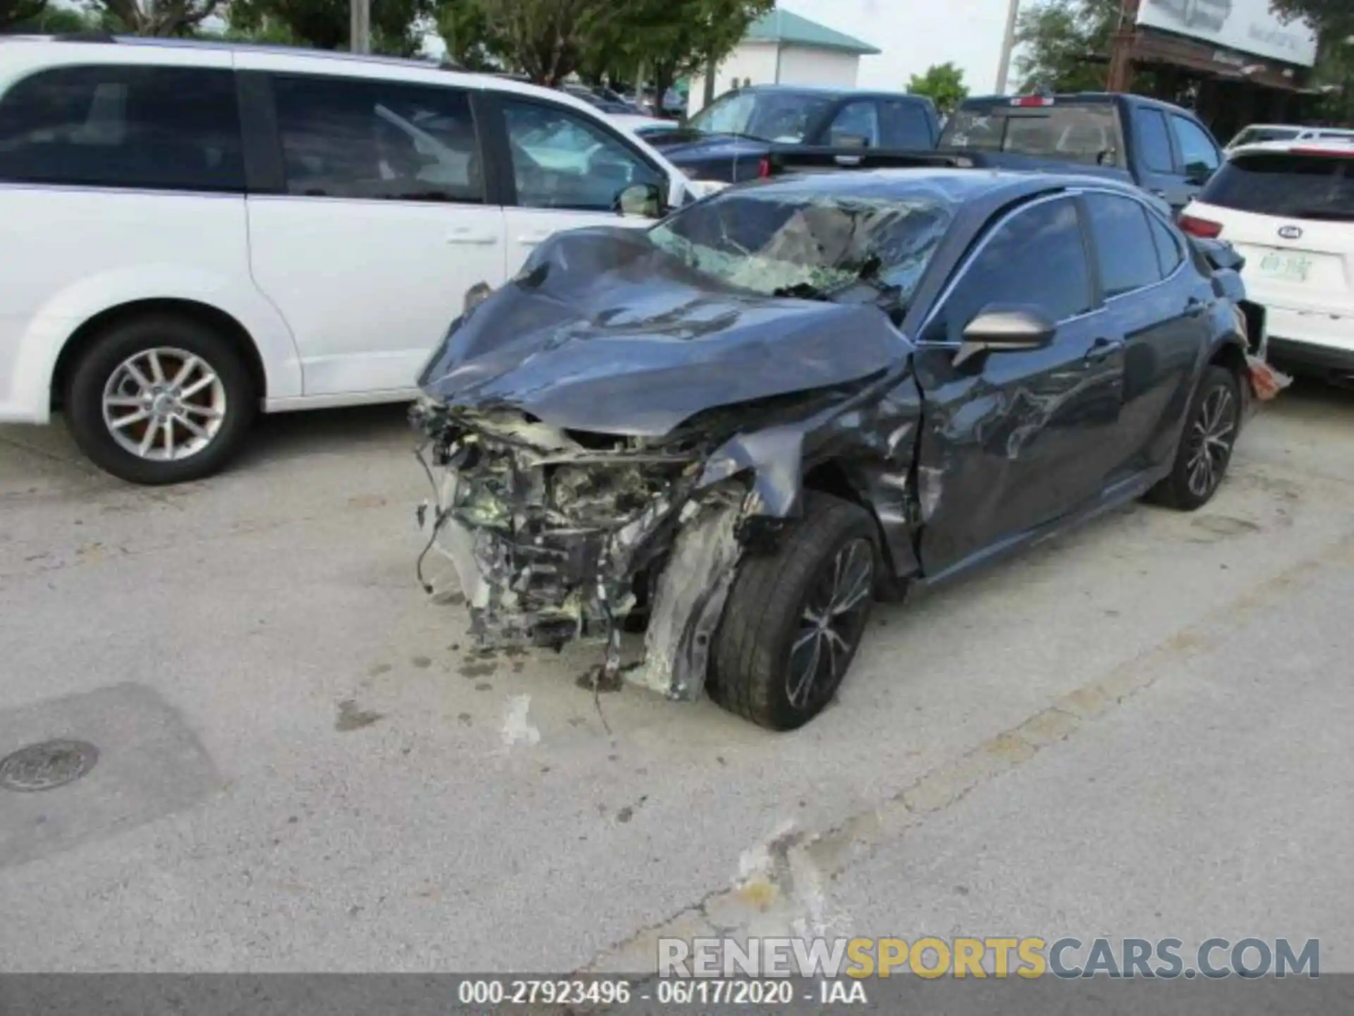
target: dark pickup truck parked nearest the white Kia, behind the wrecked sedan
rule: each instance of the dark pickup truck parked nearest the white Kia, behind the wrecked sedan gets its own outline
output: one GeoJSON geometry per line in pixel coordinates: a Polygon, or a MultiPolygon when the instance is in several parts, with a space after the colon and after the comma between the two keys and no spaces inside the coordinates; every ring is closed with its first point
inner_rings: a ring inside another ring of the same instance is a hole
{"type": "Polygon", "coordinates": [[[1137,184],[1179,211],[1223,161],[1187,110],[1141,95],[999,95],[967,99],[942,152],[983,152],[1013,169],[1070,169],[1137,184]]]}

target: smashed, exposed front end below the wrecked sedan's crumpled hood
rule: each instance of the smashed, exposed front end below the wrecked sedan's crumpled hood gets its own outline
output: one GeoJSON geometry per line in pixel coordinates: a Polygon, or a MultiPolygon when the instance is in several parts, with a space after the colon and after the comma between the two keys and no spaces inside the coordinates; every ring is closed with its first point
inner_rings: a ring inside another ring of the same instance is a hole
{"type": "MultiPolygon", "coordinates": [[[[742,508],[737,484],[697,494],[704,457],[695,444],[559,431],[517,412],[468,413],[433,401],[420,402],[413,417],[428,439],[421,454],[435,490],[421,524],[429,547],[455,568],[471,634],[483,646],[601,638],[615,666],[627,616],[647,619],[659,601],[708,610],[709,597],[699,593],[723,581],[711,572],[733,569],[731,523],[728,546],[714,555],[707,538],[695,541],[703,546],[680,539],[742,508]],[[700,588],[665,592],[669,572],[669,587],[700,588]]],[[[669,618],[659,627],[673,639],[688,625],[669,618]]],[[[673,691],[668,676],[653,683],[673,691]]]]}

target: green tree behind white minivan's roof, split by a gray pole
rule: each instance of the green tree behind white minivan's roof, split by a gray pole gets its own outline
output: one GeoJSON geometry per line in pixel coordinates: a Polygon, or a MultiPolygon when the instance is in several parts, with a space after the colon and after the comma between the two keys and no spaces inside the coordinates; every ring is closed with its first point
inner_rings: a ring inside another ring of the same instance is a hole
{"type": "MultiPolygon", "coordinates": [[[[431,0],[371,0],[372,50],[417,53],[422,38],[416,23],[431,11],[431,0]]],[[[283,33],[317,49],[349,49],[351,16],[349,0],[230,0],[233,30],[249,35],[283,33]]]]}

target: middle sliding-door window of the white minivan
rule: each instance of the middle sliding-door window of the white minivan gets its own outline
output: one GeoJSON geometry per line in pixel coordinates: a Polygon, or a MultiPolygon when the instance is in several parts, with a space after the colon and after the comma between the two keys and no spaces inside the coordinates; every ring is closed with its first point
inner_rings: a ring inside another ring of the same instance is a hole
{"type": "Polygon", "coordinates": [[[275,77],[287,192],[481,203],[470,99],[452,88],[275,77]]]}

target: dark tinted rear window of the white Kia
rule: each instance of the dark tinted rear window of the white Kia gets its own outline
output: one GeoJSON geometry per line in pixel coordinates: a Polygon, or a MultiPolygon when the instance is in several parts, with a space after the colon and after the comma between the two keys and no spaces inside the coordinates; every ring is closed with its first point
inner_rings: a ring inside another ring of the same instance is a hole
{"type": "Polygon", "coordinates": [[[1354,152],[1233,156],[1208,182],[1200,200],[1259,215],[1354,222],[1354,152]]]}

